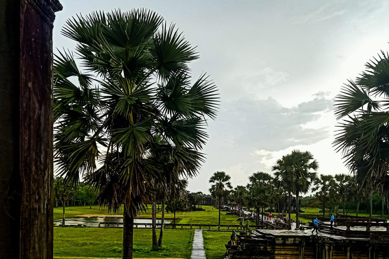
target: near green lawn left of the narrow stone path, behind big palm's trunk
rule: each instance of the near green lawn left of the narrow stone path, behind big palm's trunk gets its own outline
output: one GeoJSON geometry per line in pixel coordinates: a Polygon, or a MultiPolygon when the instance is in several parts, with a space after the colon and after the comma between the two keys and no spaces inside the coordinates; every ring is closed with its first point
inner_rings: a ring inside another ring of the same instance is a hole
{"type": "MultiPolygon", "coordinates": [[[[158,231],[159,234],[159,231],[158,231]]],[[[193,230],[164,231],[162,249],[151,250],[151,230],[134,230],[134,257],[190,258],[193,230]]],[[[228,240],[227,240],[228,241],[228,240]]],[[[121,257],[123,229],[54,228],[54,257],[121,257]]]]}

